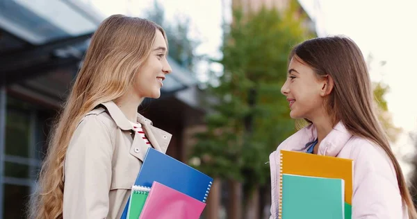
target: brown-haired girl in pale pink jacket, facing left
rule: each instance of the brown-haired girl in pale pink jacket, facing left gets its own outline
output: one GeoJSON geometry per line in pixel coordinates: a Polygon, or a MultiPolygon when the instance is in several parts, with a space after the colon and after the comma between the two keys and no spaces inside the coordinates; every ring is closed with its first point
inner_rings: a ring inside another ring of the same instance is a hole
{"type": "Polygon", "coordinates": [[[370,77],[357,44],[347,37],[319,37],[295,46],[289,60],[281,93],[290,116],[310,125],[270,155],[271,218],[279,215],[279,150],[353,159],[352,219],[416,218],[400,164],[375,116],[370,77]]]}

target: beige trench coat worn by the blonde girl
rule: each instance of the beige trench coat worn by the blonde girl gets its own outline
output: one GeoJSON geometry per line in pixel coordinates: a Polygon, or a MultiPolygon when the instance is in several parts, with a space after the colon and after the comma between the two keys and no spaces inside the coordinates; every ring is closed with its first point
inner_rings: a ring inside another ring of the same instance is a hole
{"type": "MultiPolygon", "coordinates": [[[[165,153],[172,135],[137,118],[152,146],[165,153]]],[[[65,157],[63,218],[120,218],[148,147],[115,103],[86,114],[65,157]]]]}

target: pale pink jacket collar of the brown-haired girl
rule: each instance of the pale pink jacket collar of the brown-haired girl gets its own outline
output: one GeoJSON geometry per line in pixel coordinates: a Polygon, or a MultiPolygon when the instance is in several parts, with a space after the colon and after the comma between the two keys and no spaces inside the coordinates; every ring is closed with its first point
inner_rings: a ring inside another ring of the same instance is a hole
{"type": "MultiPolygon", "coordinates": [[[[318,155],[327,155],[336,157],[342,150],[345,143],[349,141],[352,134],[347,130],[345,125],[340,121],[333,130],[327,134],[318,146],[318,155]]],[[[316,127],[311,124],[302,130],[295,132],[291,137],[283,141],[279,146],[279,150],[297,150],[305,151],[306,146],[317,138],[316,127]]]]}

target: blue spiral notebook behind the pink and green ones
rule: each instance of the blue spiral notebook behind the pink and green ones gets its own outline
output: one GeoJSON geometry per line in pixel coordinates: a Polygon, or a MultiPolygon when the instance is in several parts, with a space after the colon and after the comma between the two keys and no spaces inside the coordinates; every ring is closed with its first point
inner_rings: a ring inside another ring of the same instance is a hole
{"type": "MultiPolygon", "coordinates": [[[[151,187],[154,181],[202,202],[206,202],[213,184],[213,178],[199,170],[154,148],[148,148],[135,186],[151,187]]],[[[127,206],[129,206],[129,200],[124,208],[122,219],[127,216],[127,206]]]]}

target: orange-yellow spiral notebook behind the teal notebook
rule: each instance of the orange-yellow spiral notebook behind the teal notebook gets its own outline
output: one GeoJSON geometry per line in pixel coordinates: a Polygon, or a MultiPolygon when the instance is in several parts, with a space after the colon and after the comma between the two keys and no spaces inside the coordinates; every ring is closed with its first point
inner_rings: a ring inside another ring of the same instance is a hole
{"type": "Polygon", "coordinates": [[[281,175],[292,174],[310,177],[343,179],[345,181],[345,202],[352,205],[352,159],[313,155],[306,152],[288,150],[281,150],[280,159],[281,175]]]}

